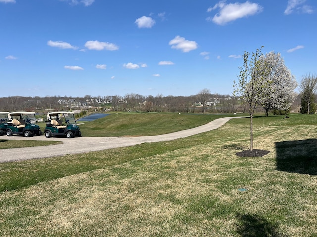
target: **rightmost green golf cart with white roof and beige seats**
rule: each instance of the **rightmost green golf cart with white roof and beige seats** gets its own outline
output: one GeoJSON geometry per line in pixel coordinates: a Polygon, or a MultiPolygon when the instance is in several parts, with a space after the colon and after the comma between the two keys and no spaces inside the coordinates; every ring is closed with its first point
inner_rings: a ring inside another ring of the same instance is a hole
{"type": "Polygon", "coordinates": [[[77,126],[74,112],[55,111],[47,113],[45,137],[66,136],[67,138],[80,137],[81,131],[77,126]]]}

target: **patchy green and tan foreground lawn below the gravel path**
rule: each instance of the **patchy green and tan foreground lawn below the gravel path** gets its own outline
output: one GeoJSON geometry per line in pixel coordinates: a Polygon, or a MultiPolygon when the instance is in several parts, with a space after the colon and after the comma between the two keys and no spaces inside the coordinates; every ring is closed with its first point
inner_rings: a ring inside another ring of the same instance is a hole
{"type": "Polygon", "coordinates": [[[317,236],[315,118],[254,118],[261,158],[235,155],[249,148],[239,118],[170,142],[0,164],[1,180],[53,170],[0,194],[0,234],[317,236]]]}

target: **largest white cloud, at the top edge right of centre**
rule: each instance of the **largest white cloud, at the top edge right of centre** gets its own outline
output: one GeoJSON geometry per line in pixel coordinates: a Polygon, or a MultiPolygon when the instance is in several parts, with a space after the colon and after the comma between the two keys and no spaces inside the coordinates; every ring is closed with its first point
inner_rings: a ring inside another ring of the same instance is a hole
{"type": "Polygon", "coordinates": [[[220,1],[213,7],[207,9],[207,12],[211,12],[219,8],[219,13],[215,14],[214,17],[207,17],[207,21],[213,21],[218,25],[224,25],[230,21],[235,21],[239,18],[255,15],[260,13],[263,7],[257,3],[251,3],[246,1],[245,3],[229,3],[226,1],[220,1]]]}

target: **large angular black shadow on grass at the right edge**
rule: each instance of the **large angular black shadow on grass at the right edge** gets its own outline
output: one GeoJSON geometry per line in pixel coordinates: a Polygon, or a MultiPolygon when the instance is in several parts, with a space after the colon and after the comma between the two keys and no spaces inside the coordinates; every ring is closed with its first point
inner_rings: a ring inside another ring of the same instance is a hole
{"type": "Polygon", "coordinates": [[[275,148],[277,170],[317,175],[317,139],[276,142],[275,148]]]}

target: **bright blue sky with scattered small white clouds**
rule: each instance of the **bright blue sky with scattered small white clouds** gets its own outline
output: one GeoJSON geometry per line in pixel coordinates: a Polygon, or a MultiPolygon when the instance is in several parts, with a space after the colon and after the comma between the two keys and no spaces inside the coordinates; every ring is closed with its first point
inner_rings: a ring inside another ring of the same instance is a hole
{"type": "Polygon", "coordinates": [[[316,0],[0,0],[0,97],[232,94],[245,51],[316,74],[316,0]]]}

